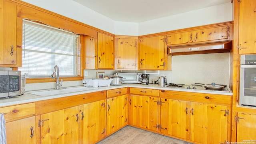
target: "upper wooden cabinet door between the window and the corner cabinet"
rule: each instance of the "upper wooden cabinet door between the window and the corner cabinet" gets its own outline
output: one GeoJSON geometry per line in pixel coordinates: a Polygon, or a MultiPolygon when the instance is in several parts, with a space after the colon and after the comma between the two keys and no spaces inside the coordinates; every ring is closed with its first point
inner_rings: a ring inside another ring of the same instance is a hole
{"type": "Polygon", "coordinates": [[[98,32],[98,68],[114,69],[114,38],[98,32]]]}

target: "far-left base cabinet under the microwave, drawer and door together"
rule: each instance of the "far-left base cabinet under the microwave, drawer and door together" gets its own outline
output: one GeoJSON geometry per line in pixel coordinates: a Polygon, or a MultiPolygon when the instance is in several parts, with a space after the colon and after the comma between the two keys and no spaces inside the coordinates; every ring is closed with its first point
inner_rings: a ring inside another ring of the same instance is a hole
{"type": "Polygon", "coordinates": [[[7,144],[36,144],[36,105],[20,104],[0,108],[6,120],[7,144]]]}

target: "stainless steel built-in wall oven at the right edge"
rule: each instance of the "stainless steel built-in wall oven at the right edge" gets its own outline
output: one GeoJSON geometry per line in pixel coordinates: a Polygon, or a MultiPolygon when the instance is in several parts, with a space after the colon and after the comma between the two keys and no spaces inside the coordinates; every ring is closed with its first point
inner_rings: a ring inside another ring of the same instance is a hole
{"type": "Polygon", "coordinates": [[[256,55],[241,55],[239,105],[256,107],[256,55]]]}

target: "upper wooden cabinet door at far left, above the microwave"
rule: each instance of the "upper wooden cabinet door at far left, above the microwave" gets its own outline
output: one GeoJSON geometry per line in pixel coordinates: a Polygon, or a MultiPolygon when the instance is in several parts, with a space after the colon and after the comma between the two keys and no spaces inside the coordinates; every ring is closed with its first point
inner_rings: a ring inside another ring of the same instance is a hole
{"type": "Polygon", "coordinates": [[[17,6],[0,1],[0,64],[16,65],[17,6]]]}

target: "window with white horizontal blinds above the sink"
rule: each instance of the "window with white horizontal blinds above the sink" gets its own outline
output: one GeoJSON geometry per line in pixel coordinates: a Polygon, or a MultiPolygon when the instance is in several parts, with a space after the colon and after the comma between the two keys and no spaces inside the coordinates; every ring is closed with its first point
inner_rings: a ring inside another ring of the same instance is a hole
{"type": "Polygon", "coordinates": [[[79,35],[23,20],[22,41],[22,74],[50,77],[58,65],[61,77],[80,75],[79,35]]]}

